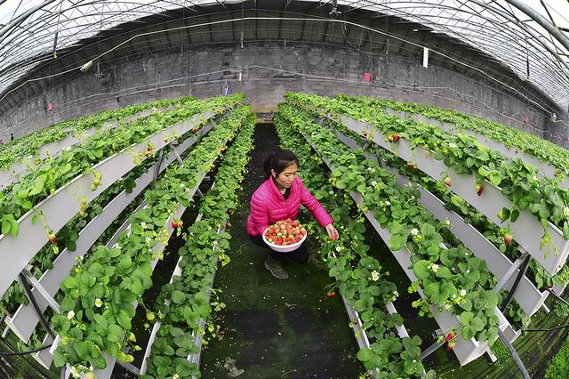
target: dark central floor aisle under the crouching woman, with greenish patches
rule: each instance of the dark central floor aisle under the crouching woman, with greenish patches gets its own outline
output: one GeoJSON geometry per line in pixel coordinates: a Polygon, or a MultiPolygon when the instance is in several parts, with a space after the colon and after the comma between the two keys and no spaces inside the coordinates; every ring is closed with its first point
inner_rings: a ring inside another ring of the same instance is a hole
{"type": "Polygon", "coordinates": [[[244,225],[251,194],[264,180],[264,157],[278,149],[273,125],[257,125],[255,149],[240,205],[231,218],[231,262],[214,286],[227,304],[219,320],[221,341],[202,353],[204,378],[357,378],[357,344],[341,299],[326,299],[332,282],[323,265],[285,262],[287,280],[263,267],[266,251],[252,244],[244,225]]]}

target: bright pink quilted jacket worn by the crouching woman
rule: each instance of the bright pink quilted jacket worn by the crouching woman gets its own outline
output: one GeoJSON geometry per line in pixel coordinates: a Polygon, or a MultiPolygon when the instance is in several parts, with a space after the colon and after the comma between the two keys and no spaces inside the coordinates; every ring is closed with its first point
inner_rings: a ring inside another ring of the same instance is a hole
{"type": "Polygon", "coordinates": [[[323,228],[333,222],[324,206],[312,196],[298,177],[294,179],[291,194],[287,199],[284,199],[283,194],[276,188],[273,178],[268,178],[252,194],[251,214],[247,219],[247,233],[254,237],[261,234],[268,225],[274,222],[289,217],[295,220],[301,204],[310,211],[323,228]]]}

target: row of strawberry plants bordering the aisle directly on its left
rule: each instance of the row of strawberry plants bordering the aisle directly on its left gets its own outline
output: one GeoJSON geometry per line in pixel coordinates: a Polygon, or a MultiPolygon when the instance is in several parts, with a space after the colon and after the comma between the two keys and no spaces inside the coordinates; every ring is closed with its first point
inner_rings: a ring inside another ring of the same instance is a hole
{"type": "MultiPolygon", "coordinates": [[[[207,332],[217,330],[212,321],[213,310],[221,310],[225,304],[210,302],[207,292],[212,286],[212,273],[217,262],[228,263],[223,252],[228,248],[227,232],[219,232],[228,220],[228,209],[236,207],[239,183],[243,180],[245,166],[249,162],[247,153],[252,149],[252,132],[255,117],[249,115],[244,120],[241,133],[228,149],[220,169],[215,176],[219,185],[210,189],[200,204],[199,222],[188,228],[186,244],[180,254],[181,275],[172,277],[172,283],[162,287],[156,299],[155,313],[159,315],[162,326],[157,332],[148,357],[148,374],[151,377],[200,377],[195,364],[188,362],[188,356],[197,353],[194,345],[196,335],[203,335],[203,343],[209,337],[199,327],[199,319],[206,319],[207,332]]],[[[213,290],[214,291],[214,290],[213,290]]]]}

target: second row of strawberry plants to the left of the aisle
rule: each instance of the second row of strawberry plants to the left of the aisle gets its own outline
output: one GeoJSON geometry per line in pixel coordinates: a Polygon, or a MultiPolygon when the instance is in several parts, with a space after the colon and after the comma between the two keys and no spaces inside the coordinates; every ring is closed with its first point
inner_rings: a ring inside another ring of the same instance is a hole
{"type": "Polygon", "coordinates": [[[124,348],[140,348],[123,336],[132,327],[133,303],[152,286],[151,262],[160,256],[153,247],[157,242],[167,245],[165,222],[177,206],[188,206],[188,194],[198,176],[209,171],[211,162],[219,157],[218,146],[233,138],[248,112],[247,108],[234,111],[192,149],[182,165],[167,168],[154,188],[145,193],[147,207],[130,217],[130,231],[124,231],[113,248],[98,246],[61,283],[61,313],[52,318],[52,327],[61,336],[53,356],[56,367],[67,362],[104,368],[102,351],[132,361],[124,348]],[[180,190],[183,183],[186,189],[180,190]]]}

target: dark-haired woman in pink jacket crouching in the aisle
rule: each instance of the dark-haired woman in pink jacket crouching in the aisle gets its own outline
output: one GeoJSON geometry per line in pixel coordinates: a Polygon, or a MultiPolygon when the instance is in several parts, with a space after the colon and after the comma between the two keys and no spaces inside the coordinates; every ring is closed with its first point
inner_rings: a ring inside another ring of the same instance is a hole
{"type": "MultiPolygon", "coordinates": [[[[325,228],[330,238],[338,238],[338,230],[333,227],[332,217],[304,187],[297,176],[299,158],[294,155],[293,151],[276,151],[275,154],[265,159],[264,169],[267,180],[252,194],[251,214],[247,219],[247,234],[256,245],[270,249],[263,241],[262,233],[268,225],[279,220],[287,218],[295,220],[301,204],[325,228]]],[[[287,256],[298,263],[306,263],[309,260],[309,252],[303,243],[291,253],[278,253],[271,249],[265,260],[265,268],[275,278],[288,278],[281,264],[287,256]]]]}

